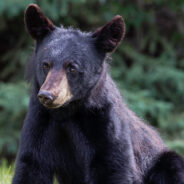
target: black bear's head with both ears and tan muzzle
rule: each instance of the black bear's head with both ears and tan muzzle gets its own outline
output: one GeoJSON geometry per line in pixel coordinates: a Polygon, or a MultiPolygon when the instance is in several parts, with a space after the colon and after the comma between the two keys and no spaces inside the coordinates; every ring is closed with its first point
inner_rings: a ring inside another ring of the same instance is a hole
{"type": "Polygon", "coordinates": [[[119,15],[95,32],[83,33],[56,27],[36,4],[27,7],[25,24],[36,40],[33,60],[37,96],[47,108],[87,97],[103,73],[106,55],[125,34],[119,15]]]}

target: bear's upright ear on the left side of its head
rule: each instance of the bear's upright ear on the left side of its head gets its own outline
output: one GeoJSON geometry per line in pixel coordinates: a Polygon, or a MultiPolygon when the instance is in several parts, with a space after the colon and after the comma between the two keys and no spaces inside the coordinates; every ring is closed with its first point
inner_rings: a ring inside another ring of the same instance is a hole
{"type": "Polygon", "coordinates": [[[55,29],[54,24],[36,4],[30,4],[25,11],[25,24],[30,35],[37,41],[55,29]]]}

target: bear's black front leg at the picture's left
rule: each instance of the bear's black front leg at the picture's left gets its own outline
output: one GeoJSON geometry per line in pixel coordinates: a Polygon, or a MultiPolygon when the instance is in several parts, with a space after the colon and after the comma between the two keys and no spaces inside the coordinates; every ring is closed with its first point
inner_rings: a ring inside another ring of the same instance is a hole
{"type": "Polygon", "coordinates": [[[32,96],[21,133],[13,184],[52,184],[48,113],[32,96]]]}

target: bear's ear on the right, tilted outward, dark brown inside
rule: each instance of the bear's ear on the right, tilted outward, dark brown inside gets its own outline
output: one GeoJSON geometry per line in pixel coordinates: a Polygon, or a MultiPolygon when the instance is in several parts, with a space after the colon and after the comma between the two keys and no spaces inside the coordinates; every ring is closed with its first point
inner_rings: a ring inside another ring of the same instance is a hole
{"type": "Polygon", "coordinates": [[[125,23],[120,15],[116,15],[111,21],[93,33],[96,38],[96,47],[104,53],[116,49],[125,35],[125,23]]]}

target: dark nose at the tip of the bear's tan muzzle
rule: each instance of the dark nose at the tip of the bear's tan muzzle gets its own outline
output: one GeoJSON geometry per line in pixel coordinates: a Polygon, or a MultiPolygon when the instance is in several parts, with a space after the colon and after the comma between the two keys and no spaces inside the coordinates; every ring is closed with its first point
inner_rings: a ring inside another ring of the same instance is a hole
{"type": "Polygon", "coordinates": [[[55,100],[55,96],[48,91],[41,90],[38,93],[38,99],[40,100],[41,103],[45,105],[51,105],[52,102],[55,100]]]}

